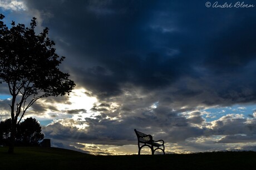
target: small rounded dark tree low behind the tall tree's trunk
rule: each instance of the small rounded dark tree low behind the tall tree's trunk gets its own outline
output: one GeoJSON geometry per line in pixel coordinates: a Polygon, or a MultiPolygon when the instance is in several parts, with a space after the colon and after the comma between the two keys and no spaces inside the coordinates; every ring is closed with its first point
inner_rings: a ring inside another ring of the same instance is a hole
{"type": "Polygon", "coordinates": [[[41,131],[40,123],[35,118],[27,118],[17,124],[16,142],[22,146],[38,146],[45,137],[41,131]]]}

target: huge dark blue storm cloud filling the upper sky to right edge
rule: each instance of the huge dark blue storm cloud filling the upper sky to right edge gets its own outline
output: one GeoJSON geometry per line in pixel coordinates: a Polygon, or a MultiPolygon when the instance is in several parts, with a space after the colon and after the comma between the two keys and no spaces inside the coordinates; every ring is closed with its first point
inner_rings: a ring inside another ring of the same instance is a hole
{"type": "Polygon", "coordinates": [[[150,90],[173,87],[180,98],[204,93],[206,105],[255,101],[253,8],[206,8],[201,1],[27,5],[52,14],[43,25],[57,42],[66,42],[71,75],[102,99],[122,94],[129,83],[150,90]],[[181,79],[183,86],[174,84],[181,79]],[[203,85],[190,88],[186,79],[203,85]]]}

